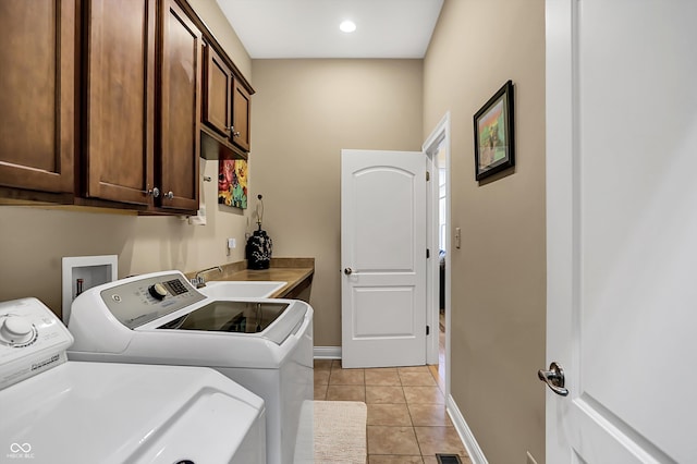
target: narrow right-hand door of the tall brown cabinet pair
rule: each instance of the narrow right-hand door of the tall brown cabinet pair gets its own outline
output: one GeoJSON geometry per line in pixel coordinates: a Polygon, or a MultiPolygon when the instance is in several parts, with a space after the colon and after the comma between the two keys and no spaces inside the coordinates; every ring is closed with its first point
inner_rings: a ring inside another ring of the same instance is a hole
{"type": "Polygon", "coordinates": [[[158,176],[160,207],[198,209],[203,35],[174,0],[163,0],[158,176]]]}

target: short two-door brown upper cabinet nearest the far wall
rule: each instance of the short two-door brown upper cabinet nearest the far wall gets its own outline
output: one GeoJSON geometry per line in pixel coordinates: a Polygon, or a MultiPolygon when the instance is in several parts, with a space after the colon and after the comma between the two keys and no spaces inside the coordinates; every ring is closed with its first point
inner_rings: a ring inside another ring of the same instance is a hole
{"type": "Polygon", "coordinates": [[[247,152],[250,93],[211,45],[205,54],[203,121],[219,138],[247,152]]]}

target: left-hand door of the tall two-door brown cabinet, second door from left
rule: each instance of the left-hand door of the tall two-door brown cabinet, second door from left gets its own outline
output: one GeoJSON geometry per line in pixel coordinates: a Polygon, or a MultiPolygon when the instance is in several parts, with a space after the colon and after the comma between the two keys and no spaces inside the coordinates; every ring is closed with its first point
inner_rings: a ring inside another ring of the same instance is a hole
{"type": "Polygon", "coordinates": [[[85,196],[151,205],[155,0],[85,8],[85,196]]]}

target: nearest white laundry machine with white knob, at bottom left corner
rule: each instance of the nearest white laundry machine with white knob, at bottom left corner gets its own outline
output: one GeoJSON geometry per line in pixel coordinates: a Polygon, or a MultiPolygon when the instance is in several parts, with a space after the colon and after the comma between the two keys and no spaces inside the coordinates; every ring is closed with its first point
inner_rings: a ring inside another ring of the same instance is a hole
{"type": "Polygon", "coordinates": [[[266,462],[264,401],[201,367],[66,361],[41,302],[0,303],[0,462],[266,462]]]}

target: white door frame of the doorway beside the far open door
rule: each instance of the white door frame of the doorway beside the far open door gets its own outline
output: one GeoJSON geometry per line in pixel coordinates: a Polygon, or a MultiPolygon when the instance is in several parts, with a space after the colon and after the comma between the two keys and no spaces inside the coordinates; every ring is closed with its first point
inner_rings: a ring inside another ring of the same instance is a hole
{"type": "MultiPolygon", "coordinates": [[[[438,302],[438,285],[439,285],[439,259],[438,259],[438,162],[437,154],[438,148],[443,147],[445,149],[445,224],[451,223],[451,149],[450,149],[450,111],[441,118],[440,122],[436,125],[433,131],[424,142],[421,151],[426,154],[427,170],[430,172],[431,178],[429,185],[427,185],[427,202],[426,202],[426,243],[430,249],[430,259],[426,264],[426,323],[431,328],[430,335],[426,339],[426,363],[437,364],[439,355],[438,346],[438,333],[439,333],[439,302],[438,302]]],[[[451,244],[450,227],[445,228],[445,242],[451,244]]],[[[452,246],[451,246],[452,248],[452,246]]],[[[451,272],[451,253],[445,255],[445,398],[450,394],[450,272],[451,272]]]]}

